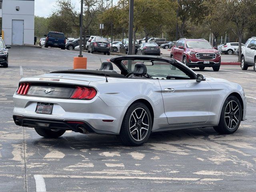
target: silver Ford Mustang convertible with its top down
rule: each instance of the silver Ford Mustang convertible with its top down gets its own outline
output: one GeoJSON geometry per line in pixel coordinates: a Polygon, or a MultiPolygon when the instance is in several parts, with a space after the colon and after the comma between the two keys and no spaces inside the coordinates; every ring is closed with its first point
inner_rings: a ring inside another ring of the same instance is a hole
{"type": "Polygon", "coordinates": [[[24,77],[13,98],[16,125],[40,136],[57,138],[66,130],[116,134],[130,146],[166,130],[212,126],[231,134],[246,119],[239,84],[206,78],[161,56],[116,56],[99,70],[24,77]]]}

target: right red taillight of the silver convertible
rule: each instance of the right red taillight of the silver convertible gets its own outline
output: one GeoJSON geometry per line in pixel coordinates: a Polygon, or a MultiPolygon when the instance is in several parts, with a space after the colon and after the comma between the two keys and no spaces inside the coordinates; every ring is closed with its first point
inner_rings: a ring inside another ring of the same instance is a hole
{"type": "Polygon", "coordinates": [[[70,98],[72,99],[92,99],[96,96],[97,92],[92,87],[79,87],[76,86],[75,91],[73,92],[70,98]]]}

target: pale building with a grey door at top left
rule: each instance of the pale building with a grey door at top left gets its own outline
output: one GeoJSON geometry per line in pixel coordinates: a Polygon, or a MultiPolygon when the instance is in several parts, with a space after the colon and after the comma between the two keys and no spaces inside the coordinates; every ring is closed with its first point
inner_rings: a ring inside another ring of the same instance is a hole
{"type": "Polygon", "coordinates": [[[6,45],[34,44],[34,0],[0,0],[6,45]]]}

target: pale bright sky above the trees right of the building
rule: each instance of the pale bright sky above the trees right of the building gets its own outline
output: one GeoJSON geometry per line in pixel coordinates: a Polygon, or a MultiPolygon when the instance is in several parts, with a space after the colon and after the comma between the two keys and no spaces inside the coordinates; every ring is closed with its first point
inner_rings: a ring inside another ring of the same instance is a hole
{"type": "MultiPolygon", "coordinates": [[[[71,0],[79,9],[80,0],[71,0]]],[[[56,0],[35,0],[35,16],[48,17],[56,8],[56,0]]]]}

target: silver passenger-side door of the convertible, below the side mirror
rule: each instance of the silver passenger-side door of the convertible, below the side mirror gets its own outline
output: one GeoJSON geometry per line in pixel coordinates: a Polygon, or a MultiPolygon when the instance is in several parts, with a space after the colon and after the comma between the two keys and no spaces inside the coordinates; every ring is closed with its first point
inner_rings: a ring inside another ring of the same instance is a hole
{"type": "MultiPolygon", "coordinates": [[[[178,68],[175,68],[175,72],[186,76],[178,68]]],[[[207,81],[159,79],[159,83],[168,124],[193,124],[208,121],[212,89],[207,81]]]]}

